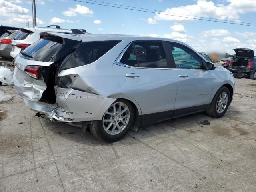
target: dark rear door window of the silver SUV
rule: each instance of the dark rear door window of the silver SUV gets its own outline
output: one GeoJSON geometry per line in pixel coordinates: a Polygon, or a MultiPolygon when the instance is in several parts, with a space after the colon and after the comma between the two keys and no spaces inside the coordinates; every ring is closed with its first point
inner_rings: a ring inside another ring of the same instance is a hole
{"type": "Polygon", "coordinates": [[[121,63],[143,68],[168,68],[162,42],[136,41],[122,56],[121,63]]]}

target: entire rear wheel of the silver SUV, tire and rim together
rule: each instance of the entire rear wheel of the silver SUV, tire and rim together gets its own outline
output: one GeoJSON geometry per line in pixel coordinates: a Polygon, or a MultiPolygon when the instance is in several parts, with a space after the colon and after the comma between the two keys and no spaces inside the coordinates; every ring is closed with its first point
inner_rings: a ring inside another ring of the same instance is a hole
{"type": "Polygon", "coordinates": [[[102,120],[98,120],[90,124],[89,126],[90,132],[93,134],[94,137],[98,138],[99,140],[102,140],[105,142],[115,142],[120,138],[122,138],[128,132],[128,130],[131,128],[131,126],[134,123],[134,117],[135,117],[135,110],[133,105],[128,100],[118,99],[104,113],[102,120]],[[119,110],[120,104],[121,104],[121,110],[119,110]],[[116,108],[116,113],[118,112],[117,115],[114,114],[113,106],[115,106],[116,108]],[[128,110],[126,110],[125,112],[123,112],[123,114],[121,114],[119,111],[124,110],[126,106],[128,110]],[[110,115],[110,113],[114,115],[110,115]],[[126,117],[122,118],[124,116],[126,117]],[[124,124],[121,122],[121,119],[122,119],[122,122],[124,122],[124,124]]]}

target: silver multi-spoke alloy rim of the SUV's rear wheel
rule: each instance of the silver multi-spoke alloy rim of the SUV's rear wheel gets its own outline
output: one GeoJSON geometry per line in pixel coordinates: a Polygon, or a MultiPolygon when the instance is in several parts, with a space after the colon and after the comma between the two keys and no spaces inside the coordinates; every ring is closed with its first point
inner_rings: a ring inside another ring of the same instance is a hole
{"type": "Polygon", "coordinates": [[[103,116],[103,128],[110,135],[121,133],[130,120],[130,110],[123,102],[113,103],[103,116]]]}

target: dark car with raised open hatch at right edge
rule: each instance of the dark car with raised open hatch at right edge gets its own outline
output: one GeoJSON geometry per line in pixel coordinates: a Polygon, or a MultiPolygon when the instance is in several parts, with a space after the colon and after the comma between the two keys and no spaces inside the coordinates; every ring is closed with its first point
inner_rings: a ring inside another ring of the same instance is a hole
{"type": "Polygon", "coordinates": [[[230,60],[229,70],[234,76],[248,76],[250,79],[256,79],[256,58],[254,52],[248,48],[234,49],[236,57],[230,60]]]}

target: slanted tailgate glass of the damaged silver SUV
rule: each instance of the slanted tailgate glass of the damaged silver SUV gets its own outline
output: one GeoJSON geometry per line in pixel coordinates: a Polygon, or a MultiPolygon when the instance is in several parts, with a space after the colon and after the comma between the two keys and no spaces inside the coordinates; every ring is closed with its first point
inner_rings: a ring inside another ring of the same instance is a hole
{"type": "Polygon", "coordinates": [[[48,62],[54,54],[62,48],[61,41],[52,41],[52,39],[41,38],[20,54],[22,58],[48,62]]]}

